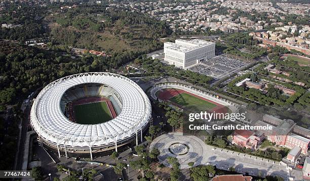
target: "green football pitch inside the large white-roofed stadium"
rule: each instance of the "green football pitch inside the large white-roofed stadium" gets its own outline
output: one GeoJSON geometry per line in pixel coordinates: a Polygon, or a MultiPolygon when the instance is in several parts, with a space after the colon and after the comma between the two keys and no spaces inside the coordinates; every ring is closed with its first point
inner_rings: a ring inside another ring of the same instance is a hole
{"type": "Polygon", "coordinates": [[[83,125],[104,123],[112,119],[106,101],[76,105],[74,115],[76,123],[83,125]]]}

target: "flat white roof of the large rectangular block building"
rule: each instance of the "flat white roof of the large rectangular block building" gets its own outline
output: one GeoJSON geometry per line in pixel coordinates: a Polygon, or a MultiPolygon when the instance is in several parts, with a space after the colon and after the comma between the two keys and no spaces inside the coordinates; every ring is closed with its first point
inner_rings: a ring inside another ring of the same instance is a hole
{"type": "Polygon", "coordinates": [[[192,39],[192,40],[183,40],[176,39],[175,43],[166,42],[165,47],[173,50],[177,50],[180,52],[189,52],[191,50],[198,49],[200,47],[205,47],[208,45],[215,44],[214,42],[200,40],[200,39],[192,39]]]}

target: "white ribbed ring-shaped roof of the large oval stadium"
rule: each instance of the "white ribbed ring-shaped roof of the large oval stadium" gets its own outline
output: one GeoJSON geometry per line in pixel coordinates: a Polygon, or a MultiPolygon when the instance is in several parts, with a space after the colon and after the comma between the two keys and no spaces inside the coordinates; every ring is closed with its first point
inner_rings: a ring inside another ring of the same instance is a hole
{"type": "Polygon", "coordinates": [[[31,124],[36,133],[56,145],[95,147],[124,140],[141,130],[151,115],[151,105],[143,90],[130,79],[111,73],[83,73],[58,79],[38,94],[31,108],[31,124]],[[63,114],[63,94],[79,84],[98,83],[115,89],[121,96],[121,113],[97,125],[73,123],[63,114]]]}

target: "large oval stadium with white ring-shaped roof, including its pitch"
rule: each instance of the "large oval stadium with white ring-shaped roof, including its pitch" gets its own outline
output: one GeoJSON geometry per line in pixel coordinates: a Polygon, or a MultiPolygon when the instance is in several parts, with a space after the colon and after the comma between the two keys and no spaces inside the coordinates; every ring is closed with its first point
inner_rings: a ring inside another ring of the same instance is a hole
{"type": "Polygon", "coordinates": [[[142,142],[151,116],[143,90],[111,73],[83,73],[47,85],[31,108],[31,125],[44,148],[59,157],[93,157],[142,142]]]}

